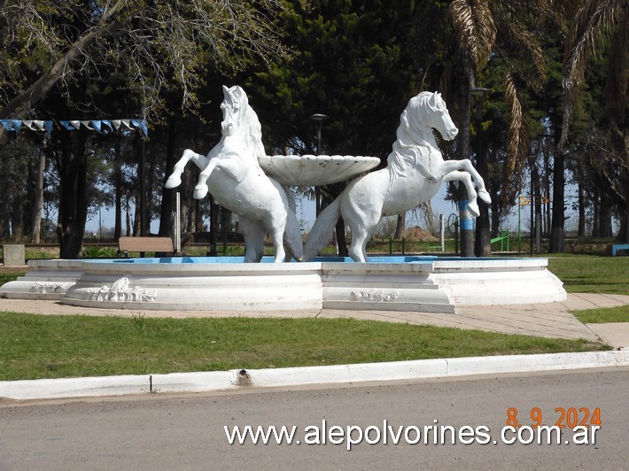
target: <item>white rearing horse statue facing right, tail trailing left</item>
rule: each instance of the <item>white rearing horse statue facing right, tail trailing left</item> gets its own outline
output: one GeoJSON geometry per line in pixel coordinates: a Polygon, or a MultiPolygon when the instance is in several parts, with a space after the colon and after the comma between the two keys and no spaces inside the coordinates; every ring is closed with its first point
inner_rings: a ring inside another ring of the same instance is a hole
{"type": "Polygon", "coordinates": [[[356,262],[367,261],[365,247],[378,221],[428,201],[444,181],[463,182],[470,198],[470,213],[478,217],[477,196],[491,203],[483,179],[467,158],[444,160],[432,128],[448,141],[459,132],[439,93],[422,92],[410,99],[400,116],[398,140],[393,143],[386,168],[352,181],[314,221],[304,249],[305,260],[313,259],[327,245],[342,215],[352,230],[350,257],[356,262]]]}

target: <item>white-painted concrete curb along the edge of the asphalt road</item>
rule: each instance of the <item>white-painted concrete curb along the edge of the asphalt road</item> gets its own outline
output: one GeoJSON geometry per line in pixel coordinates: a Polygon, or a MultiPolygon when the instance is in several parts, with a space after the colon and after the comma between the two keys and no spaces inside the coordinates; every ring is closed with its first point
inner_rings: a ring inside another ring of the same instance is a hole
{"type": "Polygon", "coordinates": [[[151,392],[209,392],[627,366],[629,366],[627,350],[420,359],[329,367],[4,381],[0,382],[0,398],[26,400],[124,396],[151,392]]]}

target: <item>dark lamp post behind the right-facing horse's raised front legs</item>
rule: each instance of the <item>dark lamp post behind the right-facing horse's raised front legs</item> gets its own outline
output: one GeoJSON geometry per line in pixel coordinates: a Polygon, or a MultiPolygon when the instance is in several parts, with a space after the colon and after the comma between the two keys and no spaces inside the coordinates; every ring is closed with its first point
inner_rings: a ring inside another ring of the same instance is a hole
{"type": "MultiPolygon", "coordinates": [[[[476,101],[476,169],[478,174],[487,181],[487,158],[483,149],[483,100],[489,90],[482,87],[470,89],[470,96],[476,101]]],[[[492,254],[491,238],[489,234],[489,212],[484,204],[479,202],[480,215],[476,219],[475,253],[477,257],[488,257],[492,254]]]]}

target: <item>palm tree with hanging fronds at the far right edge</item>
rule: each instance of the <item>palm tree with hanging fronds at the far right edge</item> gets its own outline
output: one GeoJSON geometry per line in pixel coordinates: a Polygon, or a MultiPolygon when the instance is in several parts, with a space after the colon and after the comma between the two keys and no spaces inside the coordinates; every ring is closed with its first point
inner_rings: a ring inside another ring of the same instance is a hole
{"type": "Polygon", "coordinates": [[[629,151],[625,116],[629,105],[629,4],[626,0],[581,0],[570,2],[576,11],[566,40],[563,73],[563,123],[559,146],[569,138],[576,92],[584,83],[586,69],[597,54],[608,51],[604,88],[606,131],[601,145],[605,158],[595,165],[603,183],[621,210],[617,242],[629,242],[629,151]]]}

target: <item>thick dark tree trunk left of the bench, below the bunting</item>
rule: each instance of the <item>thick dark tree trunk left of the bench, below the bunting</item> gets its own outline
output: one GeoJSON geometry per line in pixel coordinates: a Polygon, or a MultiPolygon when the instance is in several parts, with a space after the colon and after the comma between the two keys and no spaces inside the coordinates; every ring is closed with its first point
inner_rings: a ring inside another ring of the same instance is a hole
{"type": "Polygon", "coordinates": [[[87,136],[83,130],[74,135],[62,134],[61,169],[59,171],[59,220],[57,234],[61,259],[78,259],[88,217],[87,202],[87,136]]]}

